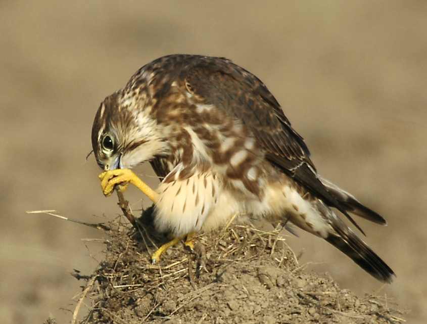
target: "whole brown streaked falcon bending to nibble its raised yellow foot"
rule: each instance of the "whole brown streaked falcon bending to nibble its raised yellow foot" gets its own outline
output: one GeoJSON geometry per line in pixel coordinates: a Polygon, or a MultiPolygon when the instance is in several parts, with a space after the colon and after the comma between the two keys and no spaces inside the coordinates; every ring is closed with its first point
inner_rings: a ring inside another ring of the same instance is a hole
{"type": "Polygon", "coordinates": [[[321,177],[303,137],[265,84],[219,57],[169,55],[140,68],[107,97],[92,126],[104,195],[128,183],[155,203],[154,224],[174,238],[224,226],[232,217],[295,224],[348,255],[376,279],[393,270],[338,216],[386,220],[321,177]],[[149,161],[149,188],[130,169],[149,161]],[[289,223],[288,223],[289,222],[289,223]]]}

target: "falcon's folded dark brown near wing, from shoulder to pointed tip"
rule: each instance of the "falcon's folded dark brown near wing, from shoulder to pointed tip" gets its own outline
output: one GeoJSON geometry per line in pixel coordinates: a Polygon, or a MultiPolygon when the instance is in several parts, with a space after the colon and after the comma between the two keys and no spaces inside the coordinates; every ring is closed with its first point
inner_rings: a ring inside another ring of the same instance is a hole
{"type": "Polygon", "coordinates": [[[197,57],[183,68],[181,77],[206,104],[215,105],[242,120],[254,134],[274,166],[340,210],[364,234],[348,214],[347,206],[319,180],[304,139],[291,126],[279,103],[264,83],[249,71],[224,58],[197,57]]]}

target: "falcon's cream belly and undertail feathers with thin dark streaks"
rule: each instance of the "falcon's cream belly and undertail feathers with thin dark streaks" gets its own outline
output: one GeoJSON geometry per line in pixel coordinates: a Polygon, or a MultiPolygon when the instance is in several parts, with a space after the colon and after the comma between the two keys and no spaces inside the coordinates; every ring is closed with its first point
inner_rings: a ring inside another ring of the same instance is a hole
{"type": "Polygon", "coordinates": [[[253,195],[225,189],[220,176],[211,171],[161,183],[157,192],[160,199],[156,204],[156,228],[175,237],[224,226],[236,214],[252,214],[269,221],[289,218],[298,227],[322,238],[331,230],[312,202],[304,199],[289,181],[266,184],[261,201],[253,195]]]}

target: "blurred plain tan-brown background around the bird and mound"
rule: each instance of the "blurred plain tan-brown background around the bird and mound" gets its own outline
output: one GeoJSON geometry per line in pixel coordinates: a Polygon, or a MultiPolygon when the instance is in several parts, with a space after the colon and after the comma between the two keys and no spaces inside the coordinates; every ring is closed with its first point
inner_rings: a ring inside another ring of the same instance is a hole
{"type": "MultiPolygon", "coordinates": [[[[69,272],[102,258],[101,244],[81,239],[102,233],[25,211],[86,221],[118,214],[93,156],[85,161],[94,114],[136,69],[172,53],[225,56],[267,84],[320,173],[388,219],[388,227],[360,221],[397,274],[378,294],[424,322],[426,5],[0,2],[0,322],[71,318],[82,283],[69,272]]],[[[156,183],[149,166],[139,174],[156,183]]],[[[128,192],[139,207],[140,193],[128,192]]],[[[288,243],[304,249],[310,269],[359,294],[382,288],[327,243],[300,236],[288,243]]]]}

